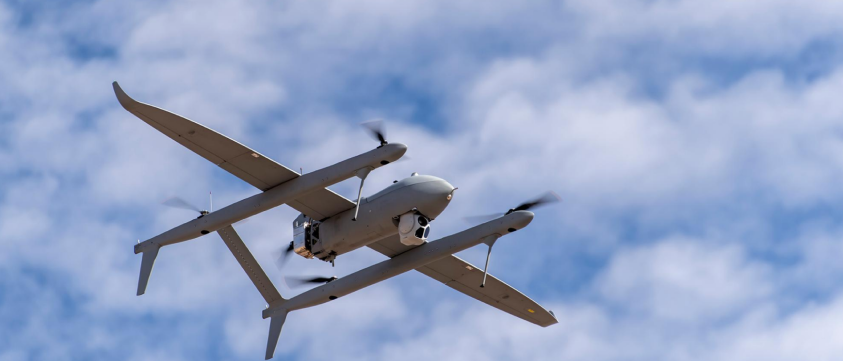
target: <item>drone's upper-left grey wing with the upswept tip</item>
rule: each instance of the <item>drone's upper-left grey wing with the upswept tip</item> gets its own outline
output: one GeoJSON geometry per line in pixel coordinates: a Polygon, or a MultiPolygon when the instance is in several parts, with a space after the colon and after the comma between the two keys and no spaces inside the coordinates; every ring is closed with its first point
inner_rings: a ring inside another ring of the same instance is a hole
{"type": "MultiPolygon", "coordinates": [[[[149,104],[138,102],[117,82],[114,93],[120,105],[153,128],[261,191],[299,176],[298,173],[237,141],[199,123],[149,104]]],[[[354,202],[328,190],[319,190],[289,203],[314,219],[325,219],[354,207],[354,202]]]]}

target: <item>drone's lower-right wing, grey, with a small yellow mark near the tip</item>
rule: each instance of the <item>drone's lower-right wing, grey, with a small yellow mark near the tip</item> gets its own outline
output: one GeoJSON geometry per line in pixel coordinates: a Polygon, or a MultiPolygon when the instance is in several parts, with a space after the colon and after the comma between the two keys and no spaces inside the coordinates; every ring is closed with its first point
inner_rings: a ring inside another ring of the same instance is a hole
{"type": "MultiPolygon", "coordinates": [[[[414,247],[405,246],[396,236],[372,243],[369,248],[392,258],[414,247]]],[[[544,309],[536,301],[492,275],[488,275],[486,287],[481,288],[483,270],[457,256],[451,255],[442,258],[416,270],[444,283],[448,287],[520,319],[542,327],[557,323],[553,312],[544,309]]]]}

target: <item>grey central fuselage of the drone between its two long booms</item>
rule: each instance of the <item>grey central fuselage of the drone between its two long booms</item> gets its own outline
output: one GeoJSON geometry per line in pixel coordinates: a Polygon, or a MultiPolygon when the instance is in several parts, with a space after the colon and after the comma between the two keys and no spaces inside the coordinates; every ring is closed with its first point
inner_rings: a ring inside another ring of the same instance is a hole
{"type": "Polygon", "coordinates": [[[448,206],[454,189],[447,181],[434,176],[405,178],[362,199],[356,221],[352,220],[354,209],[322,221],[308,220],[307,229],[302,230],[309,232],[307,249],[300,248],[303,242],[294,242],[296,252],[302,250],[299,254],[305,257],[310,258],[310,253],[323,261],[332,261],[340,254],[395,236],[401,215],[416,213],[433,220],[448,206]]]}

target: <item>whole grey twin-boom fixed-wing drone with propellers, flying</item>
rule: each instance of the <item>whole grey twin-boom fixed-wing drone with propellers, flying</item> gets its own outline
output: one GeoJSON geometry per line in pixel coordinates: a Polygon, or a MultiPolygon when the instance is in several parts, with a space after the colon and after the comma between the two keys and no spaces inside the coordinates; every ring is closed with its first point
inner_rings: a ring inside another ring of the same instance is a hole
{"type": "Polygon", "coordinates": [[[363,182],[369,172],[398,160],[407,151],[406,145],[388,143],[382,131],[375,130],[380,141],[376,149],[299,174],[196,122],[135,101],[117,82],[113,86],[120,104],[130,113],[262,191],[216,211],[202,211],[199,218],[135,245],[135,254],[143,253],[138,296],[146,291],[161,247],[217,232],[266,300],[263,318],[270,318],[267,360],[275,353],[288,312],[335,300],[414,269],[539,326],[557,322],[552,312],[487,273],[495,241],[530,224],[533,213],[529,209],[556,200],[552,193],[478,226],[427,242],[430,222],[445,210],[456,188],[443,179],[414,173],[363,198],[363,182]],[[360,178],[357,202],[325,188],[355,176],[360,178]],[[281,297],[232,224],[282,204],[301,212],[293,221],[288,252],[333,263],[337,256],[366,246],[390,259],[342,278],[313,279],[324,284],[291,299],[281,297]],[[454,256],[481,243],[489,247],[482,271],[454,256]]]}

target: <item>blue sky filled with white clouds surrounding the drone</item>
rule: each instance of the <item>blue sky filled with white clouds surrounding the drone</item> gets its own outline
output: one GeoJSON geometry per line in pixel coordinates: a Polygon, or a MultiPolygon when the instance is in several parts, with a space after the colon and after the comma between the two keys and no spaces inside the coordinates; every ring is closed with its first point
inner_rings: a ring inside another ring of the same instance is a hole
{"type": "MultiPolygon", "coordinates": [[[[263,300],[216,235],[166,248],[134,295],[136,240],[192,217],[162,200],[256,190],[114,80],[305,172],[384,118],[411,160],[365,192],[459,187],[433,238],[562,196],[491,268],[559,324],[408,273],[292,313],[277,359],[839,360],[842,33],[834,1],[0,1],[0,361],[263,356],[263,300]]],[[[288,297],[271,254],[295,215],[238,226],[288,297]]]]}

